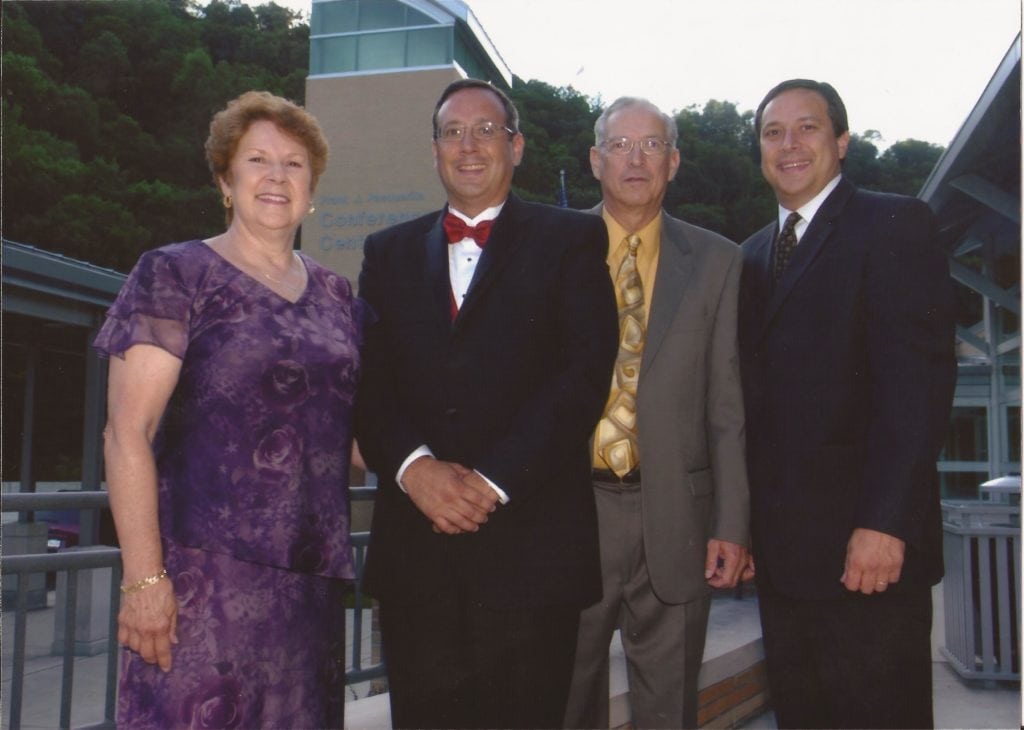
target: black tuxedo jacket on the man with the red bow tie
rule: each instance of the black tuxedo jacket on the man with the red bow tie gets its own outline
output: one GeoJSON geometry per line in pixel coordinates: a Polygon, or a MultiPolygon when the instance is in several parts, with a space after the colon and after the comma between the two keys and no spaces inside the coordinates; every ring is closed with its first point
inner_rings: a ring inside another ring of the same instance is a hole
{"type": "Polygon", "coordinates": [[[373,233],[356,436],[379,477],[364,586],[400,603],[458,590],[488,607],[600,597],[588,439],[608,392],[617,313],[603,221],[510,196],[455,320],[432,213],[373,233]],[[478,532],[435,533],[395,482],[426,444],[509,497],[478,532]]]}

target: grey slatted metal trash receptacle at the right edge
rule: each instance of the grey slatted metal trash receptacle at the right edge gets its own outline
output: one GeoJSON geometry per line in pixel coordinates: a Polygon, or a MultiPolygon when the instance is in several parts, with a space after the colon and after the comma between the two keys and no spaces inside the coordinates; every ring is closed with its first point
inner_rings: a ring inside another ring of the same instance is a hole
{"type": "MultiPolygon", "coordinates": [[[[1020,477],[1017,477],[1020,490],[1020,477]]],[[[943,500],[946,645],[967,679],[1019,680],[1020,503],[943,500]]]]}

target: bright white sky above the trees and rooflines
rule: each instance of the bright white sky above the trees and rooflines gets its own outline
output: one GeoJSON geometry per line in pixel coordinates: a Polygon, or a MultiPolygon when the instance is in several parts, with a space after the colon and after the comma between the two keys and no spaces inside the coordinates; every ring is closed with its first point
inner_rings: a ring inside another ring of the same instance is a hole
{"type": "MultiPolygon", "coordinates": [[[[310,0],[275,1],[308,19],[310,0]]],[[[670,113],[712,98],[754,110],[783,79],[817,79],[883,147],[948,144],[1021,29],[1021,0],[467,2],[523,79],[670,113]]]]}

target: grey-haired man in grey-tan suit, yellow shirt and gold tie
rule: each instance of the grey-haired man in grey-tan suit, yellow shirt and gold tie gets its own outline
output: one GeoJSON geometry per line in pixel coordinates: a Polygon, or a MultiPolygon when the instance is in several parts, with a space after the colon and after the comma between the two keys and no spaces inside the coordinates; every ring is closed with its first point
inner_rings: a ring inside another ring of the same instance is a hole
{"type": "Polygon", "coordinates": [[[620,353],[594,434],[603,598],[581,617],[566,727],[608,727],[608,644],[621,630],[633,726],[696,726],[714,588],[748,567],[740,252],[662,209],[679,168],[675,120],[616,99],[591,167],[608,226],[620,353]]]}

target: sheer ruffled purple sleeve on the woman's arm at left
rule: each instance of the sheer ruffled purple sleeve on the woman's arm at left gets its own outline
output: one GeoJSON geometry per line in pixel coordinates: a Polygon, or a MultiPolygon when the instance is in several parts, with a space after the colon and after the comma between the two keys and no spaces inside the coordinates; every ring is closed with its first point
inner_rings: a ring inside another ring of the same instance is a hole
{"type": "Polygon", "coordinates": [[[92,343],[100,355],[123,358],[133,345],[147,344],[184,358],[196,292],[177,258],[158,249],[138,260],[92,343]]]}

